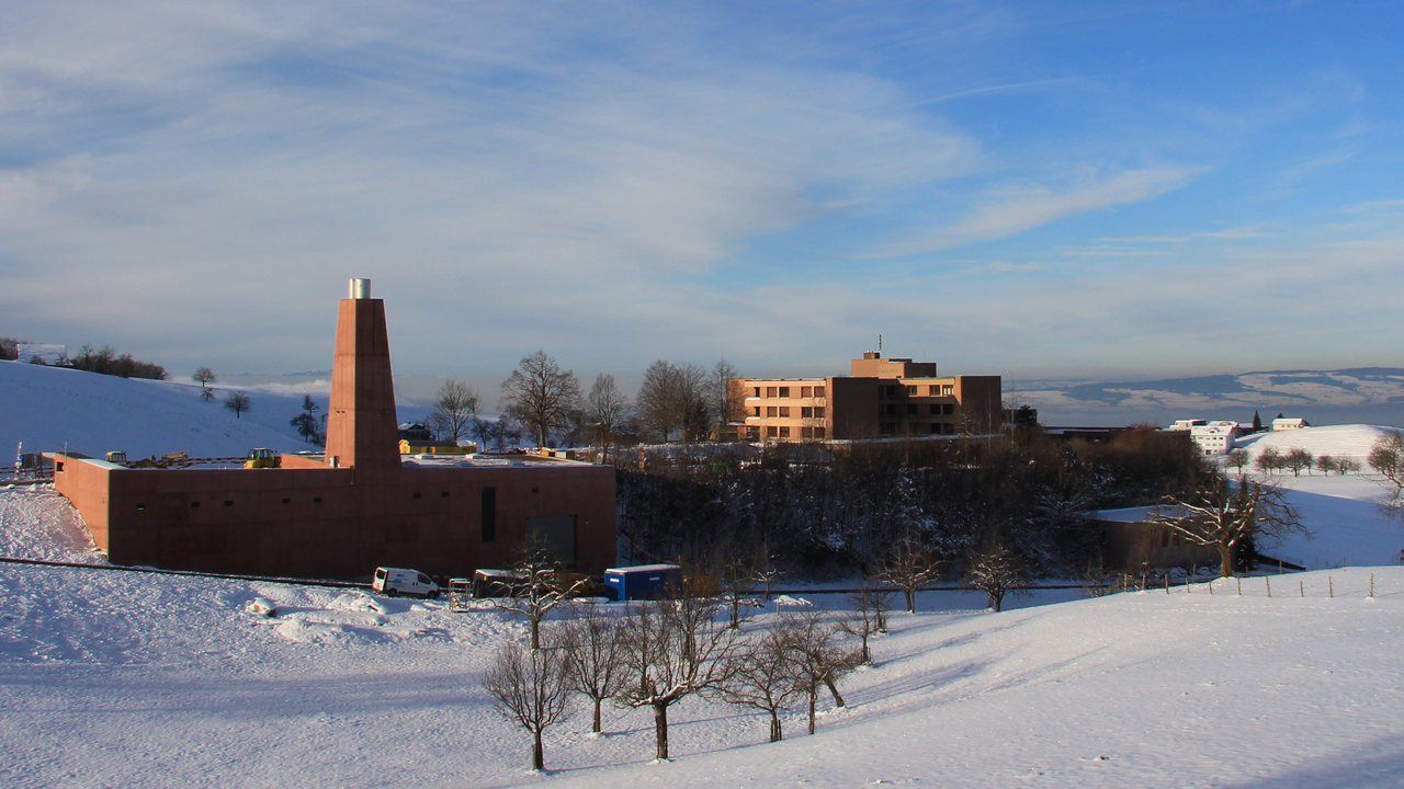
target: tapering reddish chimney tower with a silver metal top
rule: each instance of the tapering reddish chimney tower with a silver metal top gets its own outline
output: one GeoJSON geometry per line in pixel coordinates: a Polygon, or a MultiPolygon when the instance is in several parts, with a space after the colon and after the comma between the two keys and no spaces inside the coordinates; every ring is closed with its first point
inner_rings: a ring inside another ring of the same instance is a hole
{"type": "Polygon", "coordinates": [[[385,300],[371,298],[369,279],[351,281],[350,298],[341,299],[337,313],[330,411],[326,465],[400,469],[385,300]]]}

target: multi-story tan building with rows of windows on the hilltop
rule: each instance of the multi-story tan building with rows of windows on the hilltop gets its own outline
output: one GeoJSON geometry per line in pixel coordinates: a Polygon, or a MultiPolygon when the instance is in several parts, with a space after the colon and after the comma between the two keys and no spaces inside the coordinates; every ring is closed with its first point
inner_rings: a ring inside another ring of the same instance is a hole
{"type": "Polygon", "coordinates": [[[851,375],[734,379],[743,441],[828,441],[990,434],[1001,427],[998,375],[936,376],[935,362],[866,352],[851,375]]]}

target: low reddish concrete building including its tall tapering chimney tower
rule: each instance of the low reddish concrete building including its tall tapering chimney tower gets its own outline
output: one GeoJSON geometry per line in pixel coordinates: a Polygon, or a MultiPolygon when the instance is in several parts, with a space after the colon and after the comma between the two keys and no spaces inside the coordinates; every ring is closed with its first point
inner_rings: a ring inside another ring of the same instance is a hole
{"type": "Polygon", "coordinates": [[[465,576],[526,539],[563,564],[615,563],[612,466],[521,456],[400,456],[385,302],[341,300],[327,446],[279,469],[128,469],[59,455],[55,486],[117,564],[361,578],[376,566],[465,576]]]}

